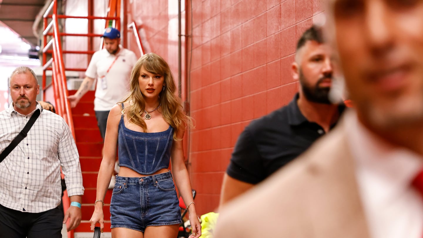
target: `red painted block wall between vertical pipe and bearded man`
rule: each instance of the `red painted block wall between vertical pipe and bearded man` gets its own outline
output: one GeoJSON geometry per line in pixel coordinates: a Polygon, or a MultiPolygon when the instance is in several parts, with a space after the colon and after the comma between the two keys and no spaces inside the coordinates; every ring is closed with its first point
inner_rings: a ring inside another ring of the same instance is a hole
{"type": "MultiPolygon", "coordinates": [[[[187,10],[189,18],[189,4],[187,10]]],[[[190,160],[198,213],[217,208],[244,127],[297,91],[290,72],[296,41],[320,12],[319,0],[192,0],[190,93],[197,127],[190,160]]],[[[191,34],[190,21],[187,29],[191,34]]]]}

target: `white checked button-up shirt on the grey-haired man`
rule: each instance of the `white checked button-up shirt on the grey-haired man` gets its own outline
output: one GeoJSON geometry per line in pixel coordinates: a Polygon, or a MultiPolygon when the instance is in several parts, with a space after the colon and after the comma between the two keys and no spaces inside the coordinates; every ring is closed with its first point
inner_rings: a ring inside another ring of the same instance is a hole
{"type": "MultiPolygon", "coordinates": [[[[0,163],[0,204],[39,213],[60,204],[60,166],[69,196],[84,194],[77,147],[59,115],[42,110],[25,137],[0,163]]],[[[34,110],[35,111],[35,110],[34,110]]],[[[34,112],[33,111],[33,112],[34,112]]],[[[22,115],[13,103],[0,112],[0,152],[19,134],[33,112],[22,115]]]]}

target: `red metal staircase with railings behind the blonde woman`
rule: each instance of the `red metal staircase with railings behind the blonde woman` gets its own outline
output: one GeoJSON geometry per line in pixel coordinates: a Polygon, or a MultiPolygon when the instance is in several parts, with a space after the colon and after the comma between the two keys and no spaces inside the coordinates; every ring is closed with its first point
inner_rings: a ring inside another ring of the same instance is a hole
{"type": "MultiPolygon", "coordinates": [[[[97,174],[102,160],[103,141],[97,127],[95,114],[93,111],[94,91],[88,91],[80,100],[77,107],[70,108],[66,99],[68,95],[74,94],[76,91],[68,91],[66,83],[66,71],[85,72],[86,68],[67,68],[63,61],[64,54],[87,54],[92,55],[94,51],[89,50],[62,50],[61,40],[66,36],[80,37],[99,37],[102,34],[85,33],[63,33],[59,31],[59,19],[84,18],[84,19],[104,19],[106,27],[120,26],[120,6],[119,0],[109,1],[109,12],[107,17],[72,17],[58,14],[57,0],[53,0],[46,13],[44,14],[44,43],[43,43],[43,83],[44,100],[53,102],[56,111],[68,123],[77,143],[78,152],[80,154],[80,163],[82,168],[83,185],[85,188],[84,196],[82,196],[82,222],[74,231],[68,232],[68,238],[74,237],[92,237],[85,232],[91,232],[89,219],[93,214],[94,201],[96,200],[96,181],[97,174]],[[47,57],[51,58],[47,61],[47,57]],[[46,71],[52,71],[52,82],[46,85],[46,71]],[[84,234],[85,233],[85,234],[84,234]],[[89,236],[88,236],[89,235],[89,236]]],[[[135,23],[134,23],[135,26],[135,23]]],[[[136,30],[136,27],[135,27],[136,30]]],[[[135,33],[134,30],[134,33],[135,33]]],[[[137,32],[136,32],[137,33],[137,32]]],[[[138,38],[138,35],[137,35],[138,38]]],[[[101,42],[102,45],[102,42],[101,42]]],[[[139,44],[141,48],[141,45],[139,44]]],[[[102,48],[102,47],[100,47],[102,48]]],[[[62,174],[63,176],[63,174],[62,174]]],[[[65,178],[66,180],[66,178],[65,178]]],[[[111,190],[107,191],[104,199],[104,232],[110,232],[110,198],[111,190]]],[[[67,194],[63,196],[63,207],[65,212],[69,208],[69,198],[67,194]]],[[[92,232],[91,232],[92,234],[92,232]]],[[[102,235],[108,237],[107,233],[102,235]]]]}

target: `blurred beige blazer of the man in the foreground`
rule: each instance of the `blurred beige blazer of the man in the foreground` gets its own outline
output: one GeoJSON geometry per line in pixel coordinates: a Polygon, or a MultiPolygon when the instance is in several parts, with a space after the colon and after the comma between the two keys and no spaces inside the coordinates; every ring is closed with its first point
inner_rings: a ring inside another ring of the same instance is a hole
{"type": "Polygon", "coordinates": [[[345,126],[222,208],[215,238],[370,237],[345,126]]]}

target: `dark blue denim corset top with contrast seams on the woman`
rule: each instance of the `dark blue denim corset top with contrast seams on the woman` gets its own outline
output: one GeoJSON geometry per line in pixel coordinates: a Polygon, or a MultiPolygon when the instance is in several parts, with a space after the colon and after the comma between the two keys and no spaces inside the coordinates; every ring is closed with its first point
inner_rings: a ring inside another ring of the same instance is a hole
{"type": "Polygon", "coordinates": [[[156,133],[129,130],[124,122],[124,105],[118,129],[119,166],[128,167],[143,175],[167,169],[173,142],[173,127],[156,133]]]}

